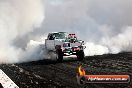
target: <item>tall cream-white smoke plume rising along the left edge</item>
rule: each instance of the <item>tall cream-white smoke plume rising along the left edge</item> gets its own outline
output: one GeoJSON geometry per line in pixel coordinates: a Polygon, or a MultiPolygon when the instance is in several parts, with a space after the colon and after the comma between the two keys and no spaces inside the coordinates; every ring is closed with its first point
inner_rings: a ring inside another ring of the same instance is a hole
{"type": "Polygon", "coordinates": [[[0,0],[0,63],[27,61],[14,40],[40,26],[43,11],[41,0],[0,0]]]}

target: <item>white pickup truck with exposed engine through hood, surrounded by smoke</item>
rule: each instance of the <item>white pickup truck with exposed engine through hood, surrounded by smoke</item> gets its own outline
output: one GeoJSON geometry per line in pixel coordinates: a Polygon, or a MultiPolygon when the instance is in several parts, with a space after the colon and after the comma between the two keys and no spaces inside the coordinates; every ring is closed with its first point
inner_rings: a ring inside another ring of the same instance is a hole
{"type": "Polygon", "coordinates": [[[84,41],[78,40],[75,34],[66,32],[49,33],[45,40],[45,47],[49,52],[56,54],[57,61],[62,61],[63,56],[76,55],[78,60],[83,60],[84,41]]]}

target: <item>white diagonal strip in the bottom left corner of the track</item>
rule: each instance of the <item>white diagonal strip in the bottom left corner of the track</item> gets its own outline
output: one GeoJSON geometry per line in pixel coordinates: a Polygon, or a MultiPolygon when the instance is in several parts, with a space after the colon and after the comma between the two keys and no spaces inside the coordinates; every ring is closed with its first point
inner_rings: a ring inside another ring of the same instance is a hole
{"type": "Polygon", "coordinates": [[[19,88],[1,69],[0,83],[4,88],[19,88]]]}

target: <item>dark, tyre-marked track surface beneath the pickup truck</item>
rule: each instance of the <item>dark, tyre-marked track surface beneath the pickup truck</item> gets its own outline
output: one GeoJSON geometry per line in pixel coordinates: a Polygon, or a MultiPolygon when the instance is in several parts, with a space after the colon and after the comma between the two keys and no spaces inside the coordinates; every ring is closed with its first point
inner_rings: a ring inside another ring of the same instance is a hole
{"type": "Polygon", "coordinates": [[[62,63],[41,60],[21,64],[3,64],[2,69],[20,88],[132,88],[129,84],[87,84],[76,81],[78,67],[82,65],[87,74],[129,74],[132,76],[132,53],[109,54],[75,58],[62,63]]]}

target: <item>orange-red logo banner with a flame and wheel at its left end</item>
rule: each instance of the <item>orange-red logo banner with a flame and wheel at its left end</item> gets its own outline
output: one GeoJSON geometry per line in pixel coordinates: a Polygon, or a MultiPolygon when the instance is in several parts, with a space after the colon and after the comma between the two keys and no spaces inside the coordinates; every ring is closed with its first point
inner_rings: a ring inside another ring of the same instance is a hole
{"type": "Polygon", "coordinates": [[[80,66],[77,74],[78,84],[86,83],[129,83],[129,75],[86,75],[85,70],[80,66]]]}

